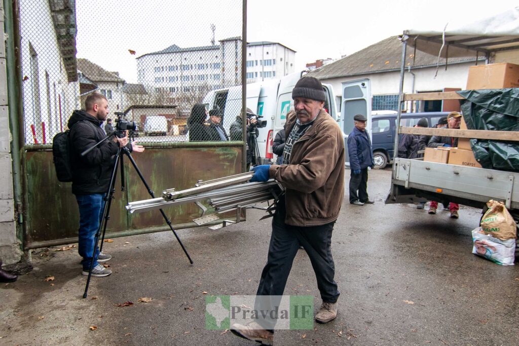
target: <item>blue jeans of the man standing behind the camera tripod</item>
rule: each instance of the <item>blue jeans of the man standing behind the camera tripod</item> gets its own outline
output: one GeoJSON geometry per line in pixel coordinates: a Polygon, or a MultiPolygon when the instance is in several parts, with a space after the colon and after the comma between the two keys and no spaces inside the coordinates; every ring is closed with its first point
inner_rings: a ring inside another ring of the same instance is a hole
{"type": "MultiPolygon", "coordinates": [[[[95,233],[103,217],[104,195],[76,195],[79,206],[79,256],[83,257],[83,270],[90,270],[95,233]]],[[[95,249],[94,267],[98,265],[99,248],[95,249]]]]}

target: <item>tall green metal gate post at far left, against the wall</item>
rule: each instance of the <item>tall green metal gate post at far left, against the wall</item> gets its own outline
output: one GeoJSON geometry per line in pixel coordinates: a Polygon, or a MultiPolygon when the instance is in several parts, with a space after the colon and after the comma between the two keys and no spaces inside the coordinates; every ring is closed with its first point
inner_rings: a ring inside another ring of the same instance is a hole
{"type": "MultiPolygon", "coordinates": [[[[20,74],[17,73],[17,58],[16,48],[18,48],[18,54],[20,54],[20,31],[17,30],[17,24],[19,23],[18,18],[15,18],[15,11],[17,16],[18,2],[11,0],[4,0],[4,12],[5,12],[5,33],[8,38],[5,42],[6,47],[6,71],[7,71],[7,102],[9,109],[9,127],[12,135],[12,141],[10,145],[11,158],[12,158],[12,178],[13,178],[13,192],[16,205],[16,215],[18,216],[18,223],[22,224],[22,165],[21,165],[21,150],[23,146],[24,137],[21,135],[23,132],[20,128],[20,124],[23,124],[23,108],[22,108],[22,92],[21,92],[21,78],[20,74]],[[15,9],[16,6],[16,9],[15,9]],[[18,40],[17,40],[18,39],[18,40]]],[[[18,237],[23,244],[23,232],[18,232],[18,237]]]]}

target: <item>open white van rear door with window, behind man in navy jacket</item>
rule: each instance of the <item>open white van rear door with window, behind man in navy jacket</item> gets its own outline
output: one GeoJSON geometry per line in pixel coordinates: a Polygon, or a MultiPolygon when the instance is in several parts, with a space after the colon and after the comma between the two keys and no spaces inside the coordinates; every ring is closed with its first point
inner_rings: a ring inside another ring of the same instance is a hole
{"type": "MultiPolygon", "coordinates": [[[[367,118],[366,131],[371,136],[371,82],[370,79],[357,79],[343,82],[343,105],[340,112],[340,128],[346,134],[344,144],[348,148],[348,135],[353,131],[353,116],[362,114],[367,118]]],[[[346,150],[346,165],[350,165],[346,150]]]]}

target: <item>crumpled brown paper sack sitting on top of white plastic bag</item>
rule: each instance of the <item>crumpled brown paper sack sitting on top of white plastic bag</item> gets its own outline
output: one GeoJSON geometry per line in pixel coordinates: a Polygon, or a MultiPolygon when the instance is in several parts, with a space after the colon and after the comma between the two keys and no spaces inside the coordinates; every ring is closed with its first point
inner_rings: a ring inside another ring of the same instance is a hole
{"type": "Polygon", "coordinates": [[[501,240],[515,239],[517,236],[515,221],[503,202],[491,199],[487,202],[487,206],[488,210],[481,218],[480,224],[483,232],[501,240]]]}

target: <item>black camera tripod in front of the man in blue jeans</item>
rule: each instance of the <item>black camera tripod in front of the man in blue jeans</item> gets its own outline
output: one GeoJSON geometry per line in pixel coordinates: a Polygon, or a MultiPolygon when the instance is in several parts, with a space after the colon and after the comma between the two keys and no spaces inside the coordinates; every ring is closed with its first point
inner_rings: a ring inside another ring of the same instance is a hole
{"type": "MultiPolygon", "coordinates": [[[[95,144],[91,148],[89,148],[89,149],[85,150],[83,153],[81,153],[81,156],[86,155],[90,150],[92,150],[93,148],[95,148],[96,146],[101,144],[103,141],[109,139],[113,135],[119,136],[120,134],[118,132],[119,131],[114,131],[111,134],[108,134],[106,137],[104,137],[104,139],[99,141],[97,144],[95,144]]],[[[99,238],[101,237],[101,230],[102,230],[102,239],[101,239],[101,246],[100,246],[100,249],[99,249],[99,253],[101,253],[101,251],[103,250],[103,243],[104,243],[104,236],[105,236],[105,232],[106,232],[106,225],[108,223],[108,219],[110,219],[110,207],[112,205],[112,199],[114,198],[113,196],[114,196],[114,192],[115,192],[115,178],[117,176],[117,168],[119,167],[119,163],[120,163],[120,169],[121,169],[121,191],[125,191],[126,190],[126,187],[125,187],[125,174],[124,174],[124,156],[123,155],[126,155],[128,157],[128,159],[130,160],[131,164],[133,165],[133,168],[135,169],[135,171],[139,175],[139,178],[141,178],[142,183],[146,187],[146,190],[148,190],[149,195],[152,196],[152,198],[155,198],[155,193],[149,187],[149,185],[146,183],[146,179],[144,179],[144,176],[142,175],[141,171],[137,167],[137,164],[133,160],[133,157],[130,154],[130,150],[127,147],[119,148],[117,150],[117,154],[115,155],[114,167],[112,169],[112,173],[111,173],[111,176],[110,176],[110,185],[108,186],[108,189],[106,190],[106,193],[105,193],[105,196],[104,196],[105,203],[104,203],[104,206],[103,206],[103,214],[102,214],[103,216],[101,218],[101,222],[99,223],[98,230],[95,233],[95,237],[94,237],[94,246],[93,246],[93,249],[92,249],[92,261],[90,262],[90,269],[88,271],[88,279],[87,279],[87,284],[85,285],[85,293],[83,294],[83,298],[86,298],[87,294],[88,294],[88,286],[90,284],[90,278],[92,276],[92,269],[93,269],[93,265],[94,265],[94,262],[95,262],[95,254],[97,252],[99,238]]],[[[180,240],[179,236],[176,234],[173,226],[171,225],[171,220],[166,216],[166,214],[164,213],[164,211],[162,209],[159,209],[159,211],[162,214],[162,217],[164,218],[166,223],[168,224],[169,228],[171,229],[171,231],[175,235],[176,240],[179,242],[180,246],[182,247],[182,250],[184,251],[184,253],[187,256],[187,259],[189,260],[189,263],[193,264],[193,260],[191,259],[191,257],[189,257],[189,254],[187,253],[187,250],[184,247],[184,244],[182,244],[182,241],[180,240]]]]}

